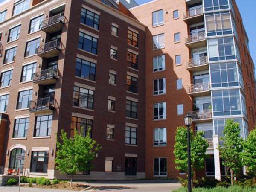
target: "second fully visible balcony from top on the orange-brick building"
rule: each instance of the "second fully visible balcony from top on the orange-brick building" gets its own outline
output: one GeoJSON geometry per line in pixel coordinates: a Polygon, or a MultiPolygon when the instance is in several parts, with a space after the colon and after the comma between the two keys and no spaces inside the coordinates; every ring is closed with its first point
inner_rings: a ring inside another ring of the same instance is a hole
{"type": "Polygon", "coordinates": [[[185,44],[189,48],[198,48],[206,46],[205,32],[189,35],[185,38],[185,44]]]}

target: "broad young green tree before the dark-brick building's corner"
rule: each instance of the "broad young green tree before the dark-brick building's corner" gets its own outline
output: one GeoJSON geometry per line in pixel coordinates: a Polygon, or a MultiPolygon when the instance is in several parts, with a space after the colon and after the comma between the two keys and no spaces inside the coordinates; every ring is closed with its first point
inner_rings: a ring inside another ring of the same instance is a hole
{"type": "Polygon", "coordinates": [[[61,130],[61,142],[57,142],[56,169],[70,175],[70,186],[72,187],[73,175],[78,172],[90,171],[92,166],[90,162],[96,157],[100,148],[99,144],[90,138],[90,130],[86,137],[75,131],[74,138],[67,138],[67,133],[61,130]]]}

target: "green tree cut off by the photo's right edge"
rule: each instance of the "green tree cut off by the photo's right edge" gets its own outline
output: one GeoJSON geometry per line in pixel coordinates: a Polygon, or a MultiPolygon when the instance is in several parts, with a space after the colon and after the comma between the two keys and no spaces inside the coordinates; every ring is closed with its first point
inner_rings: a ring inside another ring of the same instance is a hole
{"type": "Polygon", "coordinates": [[[256,128],[250,132],[247,140],[244,141],[244,151],[242,153],[244,166],[247,172],[256,175],[256,128]]]}

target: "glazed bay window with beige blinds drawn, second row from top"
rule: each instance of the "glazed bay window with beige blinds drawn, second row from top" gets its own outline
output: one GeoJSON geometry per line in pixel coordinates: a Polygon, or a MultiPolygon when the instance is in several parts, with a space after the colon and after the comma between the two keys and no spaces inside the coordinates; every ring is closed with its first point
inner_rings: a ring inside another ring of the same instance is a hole
{"type": "Polygon", "coordinates": [[[232,34],[230,12],[207,13],[206,29],[207,36],[232,34]]]}

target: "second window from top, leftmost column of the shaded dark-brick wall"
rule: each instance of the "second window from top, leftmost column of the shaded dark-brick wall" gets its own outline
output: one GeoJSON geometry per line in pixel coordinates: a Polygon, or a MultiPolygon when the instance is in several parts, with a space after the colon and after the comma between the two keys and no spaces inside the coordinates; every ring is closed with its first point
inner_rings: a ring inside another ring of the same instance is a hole
{"type": "Polygon", "coordinates": [[[97,55],[98,39],[79,32],[78,48],[97,55]]]}

